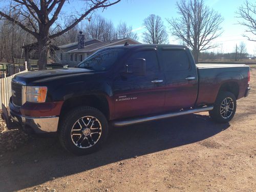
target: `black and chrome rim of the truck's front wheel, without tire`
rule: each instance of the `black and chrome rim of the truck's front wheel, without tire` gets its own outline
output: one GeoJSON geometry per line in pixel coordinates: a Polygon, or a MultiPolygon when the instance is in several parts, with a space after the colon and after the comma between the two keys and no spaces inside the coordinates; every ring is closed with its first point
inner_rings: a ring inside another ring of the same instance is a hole
{"type": "Polygon", "coordinates": [[[89,148],[99,141],[101,133],[100,121],[93,116],[84,116],[74,123],[71,139],[77,147],[89,148]]]}

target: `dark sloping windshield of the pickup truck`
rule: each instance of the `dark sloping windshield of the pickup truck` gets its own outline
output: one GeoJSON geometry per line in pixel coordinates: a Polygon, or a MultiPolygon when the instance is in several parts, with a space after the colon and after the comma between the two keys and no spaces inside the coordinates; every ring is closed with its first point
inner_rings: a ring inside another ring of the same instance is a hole
{"type": "Polygon", "coordinates": [[[96,71],[108,70],[124,54],[124,48],[102,49],[84,59],[78,64],[78,68],[86,68],[96,71]]]}

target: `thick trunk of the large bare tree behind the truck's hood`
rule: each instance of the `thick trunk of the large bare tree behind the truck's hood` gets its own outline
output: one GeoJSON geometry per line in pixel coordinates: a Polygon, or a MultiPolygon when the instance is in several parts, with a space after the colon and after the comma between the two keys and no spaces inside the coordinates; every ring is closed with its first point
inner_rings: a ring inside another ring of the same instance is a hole
{"type": "Polygon", "coordinates": [[[50,57],[50,41],[48,37],[38,39],[38,70],[46,69],[50,57]]]}

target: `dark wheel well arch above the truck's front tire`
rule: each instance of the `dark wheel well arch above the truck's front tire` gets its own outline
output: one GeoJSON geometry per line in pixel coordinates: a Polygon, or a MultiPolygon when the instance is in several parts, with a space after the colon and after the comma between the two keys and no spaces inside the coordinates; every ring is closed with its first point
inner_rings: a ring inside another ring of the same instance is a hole
{"type": "Polygon", "coordinates": [[[86,95],[67,99],[61,108],[60,117],[63,117],[68,111],[78,106],[92,106],[101,111],[106,119],[109,119],[109,103],[104,96],[101,95],[86,95]]]}

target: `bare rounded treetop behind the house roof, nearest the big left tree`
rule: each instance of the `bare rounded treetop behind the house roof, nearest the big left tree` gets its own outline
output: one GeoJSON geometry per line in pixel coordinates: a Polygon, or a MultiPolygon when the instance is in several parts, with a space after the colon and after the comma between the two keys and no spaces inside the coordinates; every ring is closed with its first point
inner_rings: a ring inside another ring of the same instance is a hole
{"type": "Polygon", "coordinates": [[[86,34],[88,38],[96,38],[103,41],[109,41],[114,38],[115,27],[111,20],[96,14],[91,18],[90,23],[86,25],[86,34]]]}

